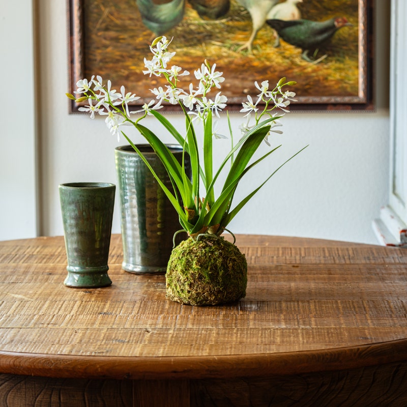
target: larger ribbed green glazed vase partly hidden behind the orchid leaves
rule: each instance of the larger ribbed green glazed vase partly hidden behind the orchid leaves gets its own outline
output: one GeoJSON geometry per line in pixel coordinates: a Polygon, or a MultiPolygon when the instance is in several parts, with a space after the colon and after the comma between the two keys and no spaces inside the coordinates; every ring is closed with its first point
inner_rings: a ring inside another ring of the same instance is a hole
{"type": "MultiPolygon", "coordinates": [[[[167,147],[181,163],[182,148],[167,147]]],[[[173,190],[163,164],[149,144],[140,144],[137,148],[165,186],[173,190]]],[[[184,161],[190,177],[189,156],[185,155],[184,161]]],[[[115,162],[122,220],[122,267],[130,273],[164,274],[171,255],[173,235],[181,229],[177,211],[131,146],[116,148],[115,162]]]]}

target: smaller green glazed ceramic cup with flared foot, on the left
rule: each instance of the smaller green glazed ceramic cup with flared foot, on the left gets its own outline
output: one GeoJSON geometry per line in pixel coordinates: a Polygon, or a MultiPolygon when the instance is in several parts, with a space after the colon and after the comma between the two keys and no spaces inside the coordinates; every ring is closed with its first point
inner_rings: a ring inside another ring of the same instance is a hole
{"type": "Polygon", "coordinates": [[[68,287],[105,287],[115,185],[81,182],[59,186],[68,287]]]}

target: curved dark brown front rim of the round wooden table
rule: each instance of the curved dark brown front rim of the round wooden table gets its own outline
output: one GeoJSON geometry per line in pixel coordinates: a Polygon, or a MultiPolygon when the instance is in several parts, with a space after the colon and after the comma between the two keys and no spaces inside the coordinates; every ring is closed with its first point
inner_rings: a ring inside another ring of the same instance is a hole
{"type": "Polygon", "coordinates": [[[117,357],[0,351],[0,373],[75,379],[221,379],[347,370],[407,363],[407,338],[362,346],[288,353],[117,357]]]}

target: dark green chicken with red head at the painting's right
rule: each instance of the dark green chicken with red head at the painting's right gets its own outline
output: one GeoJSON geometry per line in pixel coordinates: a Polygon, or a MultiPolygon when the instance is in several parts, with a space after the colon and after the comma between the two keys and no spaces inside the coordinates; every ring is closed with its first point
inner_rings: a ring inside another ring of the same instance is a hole
{"type": "Polygon", "coordinates": [[[309,52],[314,52],[327,43],[341,27],[352,26],[345,17],[332,18],[326,21],[311,20],[267,20],[267,23],[277,31],[278,35],[288,44],[302,49],[302,57],[308,62],[314,62],[309,52]]]}

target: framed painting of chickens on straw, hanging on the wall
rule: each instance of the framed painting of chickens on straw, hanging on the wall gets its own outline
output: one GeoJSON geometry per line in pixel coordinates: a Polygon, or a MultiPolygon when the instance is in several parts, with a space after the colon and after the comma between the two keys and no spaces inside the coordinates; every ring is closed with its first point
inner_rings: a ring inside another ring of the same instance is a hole
{"type": "MultiPolygon", "coordinates": [[[[237,110],[254,82],[297,81],[300,110],[373,110],[372,0],[68,0],[70,86],[92,75],[150,101],[160,78],[142,73],[151,41],[172,38],[171,64],[206,59],[237,110]]],[[[78,106],[71,101],[70,111],[78,106]]],[[[166,109],[170,110],[171,105],[166,109]]]]}

